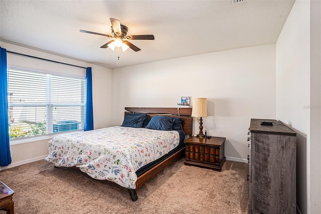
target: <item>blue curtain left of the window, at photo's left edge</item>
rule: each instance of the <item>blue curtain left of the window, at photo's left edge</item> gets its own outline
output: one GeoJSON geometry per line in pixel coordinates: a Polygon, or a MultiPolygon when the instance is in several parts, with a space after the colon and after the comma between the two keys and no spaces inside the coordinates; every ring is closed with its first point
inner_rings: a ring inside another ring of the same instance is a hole
{"type": "Polygon", "coordinates": [[[8,123],[7,50],[0,47],[0,166],[11,164],[8,123]]]}

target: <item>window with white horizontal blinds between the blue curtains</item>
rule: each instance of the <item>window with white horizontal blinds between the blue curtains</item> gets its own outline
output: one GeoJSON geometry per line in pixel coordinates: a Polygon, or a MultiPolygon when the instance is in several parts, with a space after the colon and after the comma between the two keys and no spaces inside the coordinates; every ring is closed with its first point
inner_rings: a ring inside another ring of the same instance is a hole
{"type": "Polygon", "coordinates": [[[10,139],[83,130],[84,78],[8,69],[10,139]]]}

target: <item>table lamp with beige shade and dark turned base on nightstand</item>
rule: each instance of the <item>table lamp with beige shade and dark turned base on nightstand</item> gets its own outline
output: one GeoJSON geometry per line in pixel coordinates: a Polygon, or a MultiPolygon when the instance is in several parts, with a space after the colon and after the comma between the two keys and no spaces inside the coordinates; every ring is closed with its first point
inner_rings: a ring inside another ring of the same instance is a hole
{"type": "Polygon", "coordinates": [[[204,138],[203,134],[203,117],[207,117],[207,100],[206,98],[194,98],[192,117],[200,118],[200,133],[197,135],[198,138],[204,138]]]}

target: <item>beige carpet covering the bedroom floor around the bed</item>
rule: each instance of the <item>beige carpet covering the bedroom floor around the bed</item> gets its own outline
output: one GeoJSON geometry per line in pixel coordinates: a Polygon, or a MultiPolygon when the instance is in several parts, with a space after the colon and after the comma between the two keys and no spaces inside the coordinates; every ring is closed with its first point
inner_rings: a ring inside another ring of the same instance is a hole
{"type": "MultiPolygon", "coordinates": [[[[247,213],[248,164],[226,161],[221,172],[179,159],[137,190],[90,178],[76,168],[37,161],[0,171],[15,191],[15,213],[247,213]]],[[[5,211],[0,211],[1,214],[5,211]]]]}

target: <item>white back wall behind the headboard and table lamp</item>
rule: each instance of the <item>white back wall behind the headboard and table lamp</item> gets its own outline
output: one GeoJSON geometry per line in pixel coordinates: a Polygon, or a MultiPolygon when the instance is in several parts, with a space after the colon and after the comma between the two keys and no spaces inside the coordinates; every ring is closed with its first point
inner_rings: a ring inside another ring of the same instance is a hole
{"type": "MultiPolygon", "coordinates": [[[[117,68],[112,84],[113,125],[121,125],[125,107],[177,107],[181,96],[206,97],[203,131],[226,137],[225,156],[247,162],[250,119],[275,119],[275,45],[117,68]]],[[[198,127],[194,121],[194,133],[198,127]]]]}

